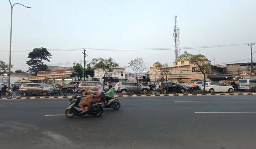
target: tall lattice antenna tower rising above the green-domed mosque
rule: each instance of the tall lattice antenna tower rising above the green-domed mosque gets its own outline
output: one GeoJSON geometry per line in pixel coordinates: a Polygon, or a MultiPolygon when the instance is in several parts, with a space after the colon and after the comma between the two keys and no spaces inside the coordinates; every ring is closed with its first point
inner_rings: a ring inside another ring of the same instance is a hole
{"type": "Polygon", "coordinates": [[[174,32],[172,36],[174,37],[174,43],[175,43],[175,60],[178,56],[180,56],[180,29],[177,26],[177,15],[174,15],[175,20],[175,26],[174,26],[174,32]]]}

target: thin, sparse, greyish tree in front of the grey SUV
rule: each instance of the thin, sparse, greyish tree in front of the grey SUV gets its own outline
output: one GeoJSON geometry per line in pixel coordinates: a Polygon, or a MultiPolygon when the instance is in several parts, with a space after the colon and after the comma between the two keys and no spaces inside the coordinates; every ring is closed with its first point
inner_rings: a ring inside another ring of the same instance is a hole
{"type": "Polygon", "coordinates": [[[137,79],[137,89],[136,89],[136,94],[138,94],[138,81],[139,81],[139,74],[143,73],[146,71],[145,63],[143,59],[140,57],[136,57],[135,59],[132,59],[128,63],[129,67],[133,68],[133,71],[136,72],[136,79],[137,79]]]}

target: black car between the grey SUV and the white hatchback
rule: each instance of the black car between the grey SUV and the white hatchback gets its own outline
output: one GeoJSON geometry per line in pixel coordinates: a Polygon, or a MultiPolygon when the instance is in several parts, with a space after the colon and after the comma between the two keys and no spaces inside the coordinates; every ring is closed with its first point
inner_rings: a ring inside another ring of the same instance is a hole
{"type": "Polygon", "coordinates": [[[173,82],[166,82],[165,84],[165,90],[162,92],[162,90],[159,88],[160,93],[167,93],[167,89],[168,92],[175,92],[175,93],[184,93],[186,92],[186,88],[177,84],[177,83],[173,83],[173,82]]]}

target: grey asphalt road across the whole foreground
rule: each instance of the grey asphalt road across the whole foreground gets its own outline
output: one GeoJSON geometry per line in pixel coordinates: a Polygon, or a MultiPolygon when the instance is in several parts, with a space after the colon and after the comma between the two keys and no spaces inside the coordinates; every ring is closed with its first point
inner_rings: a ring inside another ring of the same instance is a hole
{"type": "Polygon", "coordinates": [[[117,111],[73,118],[45,116],[68,99],[0,100],[0,148],[255,149],[255,97],[120,98],[117,111]]]}

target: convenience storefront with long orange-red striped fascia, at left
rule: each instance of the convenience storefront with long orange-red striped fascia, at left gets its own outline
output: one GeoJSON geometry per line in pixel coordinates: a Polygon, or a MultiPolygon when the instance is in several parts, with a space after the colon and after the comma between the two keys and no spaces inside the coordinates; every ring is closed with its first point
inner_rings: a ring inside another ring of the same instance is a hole
{"type": "Polygon", "coordinates": [[[39,71],[37,72],[37,76],[32,76],[29,80],[34,83],[46,83],[53,86],[70,84],[74,81],[74,79],[70,77],[73,71],[74,69],[39,71]]]}

